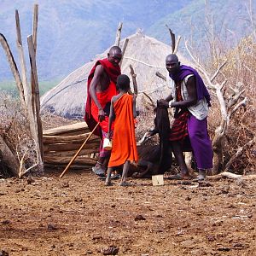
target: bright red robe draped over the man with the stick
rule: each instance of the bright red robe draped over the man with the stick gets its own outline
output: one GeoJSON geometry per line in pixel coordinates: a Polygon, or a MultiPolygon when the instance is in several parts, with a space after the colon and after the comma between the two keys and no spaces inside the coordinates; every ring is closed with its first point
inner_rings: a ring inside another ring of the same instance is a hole
{"type": "MultiPolygon", "coordinates": [[[[85,115],[84,115],[84,120],[87,123],[88,127],[90,128],[90,131],[93,130],[93,128],[96,126],[98,122],[99,111],[98,111],[98,108],[96,107],[95,102],[91,100],[91,96],[89,92],[90,83],[91,83],[91,80],[93,79],[96,66],[98,65],[102,65],[102,67],[104,68],[105,72],[108,74],[108,77],[110,79],[110,84],[108,86],[108,89],[96,93],[97,99],[102,105],[102,108],[105,108],[107,103],[110,104],[111,98],[118,94],[118,91],[116,89],[116,80],[119,74],[121,74],[120,67],[113,66],[113,64],[110,61],[108,61],[108,59],[96,61],[96,64],[90,70],[90,74],[87,82],[87,100],[86,100],[85,115]]],[[[105,120],[103,120],[100,125],[101,125],[101,128],[96,129],[95,131],[95,134],[98,136],[102,135],[101,129],[105,132],[108,132],[108,117],[105,117],[105,120]]]]}

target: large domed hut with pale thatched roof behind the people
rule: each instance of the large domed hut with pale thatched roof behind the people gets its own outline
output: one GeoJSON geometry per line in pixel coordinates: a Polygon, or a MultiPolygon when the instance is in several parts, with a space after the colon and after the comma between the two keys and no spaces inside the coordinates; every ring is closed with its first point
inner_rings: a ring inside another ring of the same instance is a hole
{"type": "MultiPolygon", "coordinates": [[[[120,47],[125,40],[120,42],[120,47]]],[[[171,47],[154,38],[149,38],[141,32],[137,32],[129,37],[124,61],[122,63],[122,73],[130,76],[130,64],[137,73],[137,84],[139,91],[138,108],[143,108],[143,94],[146,92],[153,100],[166,96],[168,87],[163,79],[158,78],[155,73],[158,71],[164,75],[166,73],[166,55],[171,53],[171,47]]],[[[71,117],[84,116],[84,102],[87,94],[87,77],[96,60],[106,57],[108,49],[102,55],[97,55],[96,59],[79,67],[66,79],[49,90],[41,97],[41,109],[49,110],[57,115],[71,117]]],[[[182,55],[179,55],[182,63],[188,64],[182,55]]]]}

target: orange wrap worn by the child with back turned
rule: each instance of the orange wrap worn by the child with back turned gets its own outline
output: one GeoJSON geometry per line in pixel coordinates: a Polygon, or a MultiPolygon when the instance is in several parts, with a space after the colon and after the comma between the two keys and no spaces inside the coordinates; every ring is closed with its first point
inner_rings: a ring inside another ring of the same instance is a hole
{"type": "Polygon", "coordinates": [[[126,160],[138,160],[132,98],[131,95],[125,94],[113,103],[113,148],[108,167],[121,166],[126,160]]]}

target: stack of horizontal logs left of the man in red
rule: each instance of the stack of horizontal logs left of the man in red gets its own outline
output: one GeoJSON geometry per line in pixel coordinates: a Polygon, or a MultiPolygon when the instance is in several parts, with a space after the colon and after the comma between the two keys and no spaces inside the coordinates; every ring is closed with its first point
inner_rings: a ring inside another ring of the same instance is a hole
{"type": "MultiPolygon", "coordinates": [[[[89,136],[90,130],[84,122],[44,131],[44,166],[65,168],[89,136]]],[[[88,169],[95,166],[99,146],[100,138],[92,135],[73,161],[71,168],[88,169]]]]}

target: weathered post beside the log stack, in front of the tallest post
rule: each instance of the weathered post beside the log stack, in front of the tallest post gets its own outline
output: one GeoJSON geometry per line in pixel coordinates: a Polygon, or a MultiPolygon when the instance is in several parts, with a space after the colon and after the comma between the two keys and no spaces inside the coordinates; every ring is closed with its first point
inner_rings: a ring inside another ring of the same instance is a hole
{"type": "Polygon", "coordinates": [[[37,73],[37,64],[35,58],[35,51],[34,45],[32,42],[32,35],[27,37],[27,45],[28,45],[28,52],[29,52],[29,59],[30,59],[30,66],[32,71],[32,79],[35,85],[35,113],[36,113],[36,123],[38,128],[38,152],[40,152],[39,157],[39,164],[43,163],[44,158],[44,151],[43,151],[43,129],[42,129],[42,122],[40,119],[40,99],[39,99],[39,89],[38,89],[38,73],[37,73]]]}

